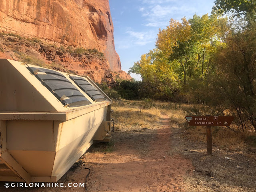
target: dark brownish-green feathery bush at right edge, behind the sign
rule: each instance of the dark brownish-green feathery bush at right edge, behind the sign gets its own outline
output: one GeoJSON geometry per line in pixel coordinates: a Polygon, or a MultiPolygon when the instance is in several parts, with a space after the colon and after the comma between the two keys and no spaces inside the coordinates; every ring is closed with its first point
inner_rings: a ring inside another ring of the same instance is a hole
{"type": "Polygon", "coordinates": [[[230,31],[226,48],[214,59],[216,75],[212,76],[212,106],[219,114],[236,116],[235,129],[256,130],[256,22],[243,32],[230,31]],[[217,94],[216,94],[217,93],[217,94]]]}

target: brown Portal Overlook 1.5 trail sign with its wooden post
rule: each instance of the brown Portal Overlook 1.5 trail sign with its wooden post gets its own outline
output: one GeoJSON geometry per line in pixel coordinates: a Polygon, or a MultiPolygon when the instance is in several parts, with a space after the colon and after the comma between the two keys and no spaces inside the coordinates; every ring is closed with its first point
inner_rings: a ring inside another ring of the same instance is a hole
{"type": "Polygon", "coordinates": [[[234,117],[232,116],[186,116],[190,126],[206,126],[207,133],[207,155],[212,155],[212,126],[230,126],[234,117]]]}

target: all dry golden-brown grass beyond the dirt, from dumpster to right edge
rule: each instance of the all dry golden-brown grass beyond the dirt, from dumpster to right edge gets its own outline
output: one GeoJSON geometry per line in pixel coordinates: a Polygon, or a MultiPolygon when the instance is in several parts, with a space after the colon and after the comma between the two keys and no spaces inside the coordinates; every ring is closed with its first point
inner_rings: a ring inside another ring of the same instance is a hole
{"type": "MultiPolygon", "coordinates": [[[[201,110],[201,106],[159,102],[152,100],[129,101],[118,100],[114,102],[114,119],[116,129],[125,131],[140,131],[143,128],[153,129],[159,121],[161,113],[168,114],[172,126],[184,129],[184,138],[196,143],[206,142],[206,129],[204,126],[188,126],[185,120],[188,111],[201,110]]],[[[256,136],[250,136],[255,138],[256,136]]],[[[212,127],[213,146],[227,150],[244,150],[248,144],[248,136],[234,132],[223,127],[212,127]]]]}

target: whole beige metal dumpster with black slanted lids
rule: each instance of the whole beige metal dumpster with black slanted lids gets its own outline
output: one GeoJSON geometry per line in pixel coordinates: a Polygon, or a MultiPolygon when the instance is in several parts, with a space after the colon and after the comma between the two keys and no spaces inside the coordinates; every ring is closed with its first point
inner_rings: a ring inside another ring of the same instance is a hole
{"type": "Polygon", "coordinates": [[[0,59],[0,181],[57,182],[110,140],[111,104],[88,76],[0,59]]]}

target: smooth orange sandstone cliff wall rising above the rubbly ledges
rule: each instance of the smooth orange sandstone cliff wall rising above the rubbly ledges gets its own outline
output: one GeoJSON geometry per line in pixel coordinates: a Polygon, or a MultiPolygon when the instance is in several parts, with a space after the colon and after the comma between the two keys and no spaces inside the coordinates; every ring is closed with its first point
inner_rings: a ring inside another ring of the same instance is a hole
{"type": "Polygon", "coordinates": [[[0,0],[0,29],[67,46],[96,48],[121,70],[108,0],[0,0]]]}

